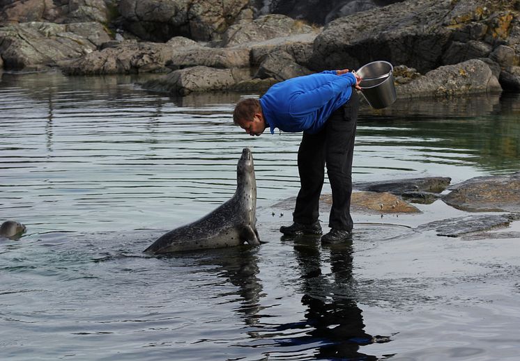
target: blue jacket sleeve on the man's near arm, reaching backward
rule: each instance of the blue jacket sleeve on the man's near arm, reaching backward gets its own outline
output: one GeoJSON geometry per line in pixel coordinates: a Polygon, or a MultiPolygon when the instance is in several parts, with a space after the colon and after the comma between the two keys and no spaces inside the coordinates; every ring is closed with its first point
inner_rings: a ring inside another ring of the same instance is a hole
{"type": "Polygon", "coordinates": [[[330,99],[337,97],[346,88],[355,85],[355,77],[352,73],[338,75],[335,79],[310,90],[293,96],[289,111],[292,115],[302,115],[321,108],[330,99]]]}

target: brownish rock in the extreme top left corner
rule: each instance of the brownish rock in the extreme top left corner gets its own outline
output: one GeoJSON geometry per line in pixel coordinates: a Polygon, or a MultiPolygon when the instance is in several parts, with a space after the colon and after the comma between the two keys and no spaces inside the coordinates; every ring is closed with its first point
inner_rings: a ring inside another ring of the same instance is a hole
{"type": "Polygon", "coordinates": [[[13,1],[0,11],[0,22],[107,23],[109,7],[104,0],[13,1]]]}

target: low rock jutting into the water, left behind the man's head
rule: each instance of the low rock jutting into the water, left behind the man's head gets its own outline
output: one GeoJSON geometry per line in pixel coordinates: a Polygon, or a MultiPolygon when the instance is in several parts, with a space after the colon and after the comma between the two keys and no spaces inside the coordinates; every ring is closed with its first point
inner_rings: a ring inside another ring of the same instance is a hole
{"type": "Polygon", "coordinates": [[[173,95],[188,95],[199,91],[227,90],[246,79],[250,79],[249,69],[196,66],[175,70],[159,79],[146,81],[142,87],[173,95]]]}

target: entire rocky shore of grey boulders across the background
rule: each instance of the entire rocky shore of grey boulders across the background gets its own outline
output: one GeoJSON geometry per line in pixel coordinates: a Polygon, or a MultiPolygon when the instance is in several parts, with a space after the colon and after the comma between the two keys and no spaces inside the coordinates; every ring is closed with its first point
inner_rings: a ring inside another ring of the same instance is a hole
{"type": "Polygon", "coordinates": [[[156,72],[144,89],[187,95],[385,60],[402,98],[520,91],[520,0],[336,0],[323,26],[315,2],[3,0],[0,70],[156,72]]]}

